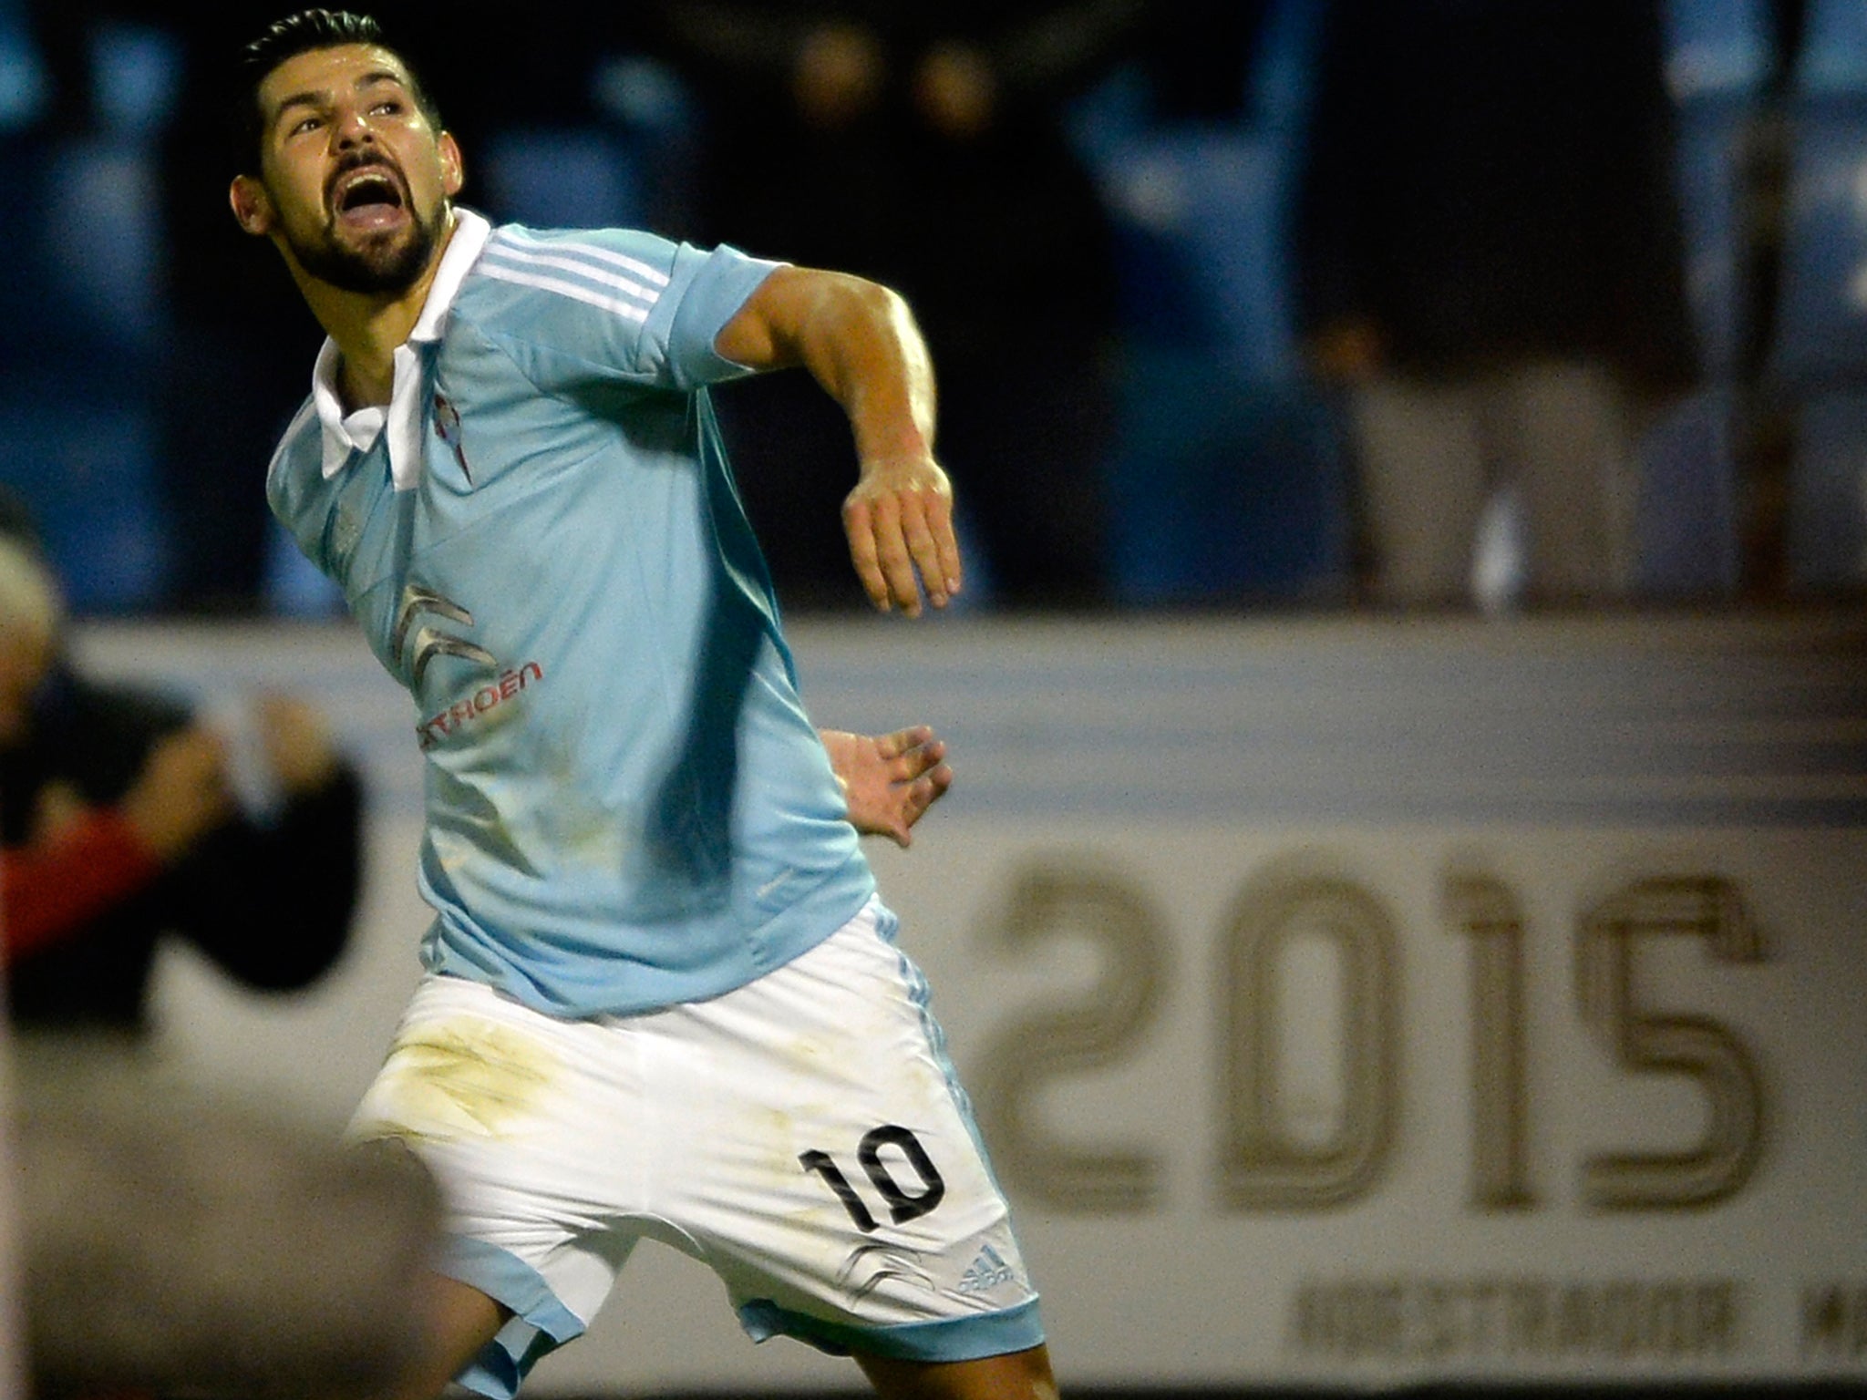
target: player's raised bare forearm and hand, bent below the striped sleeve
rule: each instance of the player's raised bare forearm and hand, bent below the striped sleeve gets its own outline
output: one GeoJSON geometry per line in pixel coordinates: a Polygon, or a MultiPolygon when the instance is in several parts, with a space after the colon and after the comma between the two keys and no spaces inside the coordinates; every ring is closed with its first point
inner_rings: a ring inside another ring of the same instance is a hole
{"type": "Polygon", "coordinates": [[[863,588],[883,612],[919,616],[920,588],[945,607],[960,592],[960,545],[934,459],[934,368],[907,302],[846,273],[780,267],[713,345],[751,370],[801,364],[842,405],[859,463],[842,517],[863,588]]]}

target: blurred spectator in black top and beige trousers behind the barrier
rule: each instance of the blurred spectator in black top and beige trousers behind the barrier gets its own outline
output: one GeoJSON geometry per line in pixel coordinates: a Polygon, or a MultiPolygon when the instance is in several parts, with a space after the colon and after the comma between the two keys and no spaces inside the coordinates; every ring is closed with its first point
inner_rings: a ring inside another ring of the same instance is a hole
{"type": "Polygon", "coordinates": [[[1499,487],[1527,603],[1632,577],[1643,429],[1695,375],[1658,0],[1339,0],[1296,239],[1348,386],[1376,603],[1471,597],[1499,487]]]}

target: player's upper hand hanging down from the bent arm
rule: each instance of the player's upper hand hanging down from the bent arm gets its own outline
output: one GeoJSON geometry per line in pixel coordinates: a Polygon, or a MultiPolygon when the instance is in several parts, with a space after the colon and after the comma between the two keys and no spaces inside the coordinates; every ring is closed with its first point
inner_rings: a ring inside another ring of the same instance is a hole
{"type": "Polygon", "coordinates": [[[960,592],[952,483],[932,457],[863,463],[842,502],[842,528],[855,575],[883,612],[898,607],[919,618],[922,588],[937,609],[960,592]]]}

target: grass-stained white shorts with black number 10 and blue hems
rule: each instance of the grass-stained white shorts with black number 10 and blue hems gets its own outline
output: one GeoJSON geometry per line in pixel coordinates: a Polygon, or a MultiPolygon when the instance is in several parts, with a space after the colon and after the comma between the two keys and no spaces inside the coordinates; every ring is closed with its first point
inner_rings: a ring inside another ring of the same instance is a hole
{"type": "Polygon", "coordinates": [[[877,902],[713,1001],[560,1021],[428,976],[351,1124],[441,1182],[441,1269],[513,1310],[461,1383],[517,1393],[629,1251],[708,1264],[754,1338],[965,1361],[1044,1340],[926,982],[877,902]]]}

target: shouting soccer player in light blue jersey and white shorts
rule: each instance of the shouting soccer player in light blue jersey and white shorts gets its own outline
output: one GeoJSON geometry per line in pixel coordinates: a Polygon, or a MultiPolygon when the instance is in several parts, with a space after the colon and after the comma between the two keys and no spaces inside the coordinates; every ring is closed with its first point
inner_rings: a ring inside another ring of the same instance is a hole
{"type": "Polygon", "coordinates": [[[708,399],[805,366],[849,418],[866,592],[941,607],[960,556],[905,304],[728,246],[489,226],[366,17],[278,21],[245,82],[233,215],[329,334],[269,497],[426,758],[426,976],[351,1127],[448,1198],[411,1393],[513,1394],[648,1236],[752,1337],[853,1353],[885,1396],[1053,1394],[708,399]]]}

